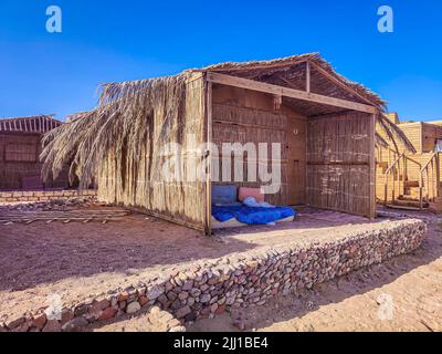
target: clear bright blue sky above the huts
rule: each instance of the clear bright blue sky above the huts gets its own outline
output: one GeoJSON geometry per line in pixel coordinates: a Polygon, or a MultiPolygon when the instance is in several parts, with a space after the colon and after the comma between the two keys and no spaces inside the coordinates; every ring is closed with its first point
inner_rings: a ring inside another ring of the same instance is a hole
{"type": "Polygon", "coordinates": [[[320,52],[401,119],[442,119],[442,1],[0,1],[0,116],[92,108],[101,83],[320,52]],[[45,30],[49,6],[63,32],[45,30]],[[377,10],[394,11],[394,32],[377,10]]]}

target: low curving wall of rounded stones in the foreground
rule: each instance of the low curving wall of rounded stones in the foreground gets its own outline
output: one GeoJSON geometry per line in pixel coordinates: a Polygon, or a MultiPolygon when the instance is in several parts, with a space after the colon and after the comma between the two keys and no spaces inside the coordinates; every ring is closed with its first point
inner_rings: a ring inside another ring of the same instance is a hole
{"type": "Polygon", "coordinates": [[[293,242],[234,253],[210,263],[183,266],[161,279],[66,306],[60,321],[48,321],[41,310],[34,315],[10,319],[2,327],[3,331],[71,331],[152,305],[170,312],[181,323],[190,322],[232,308],[262,305],[277,294],[296,293],[410,252],[421,244],[425,231],[423,221],[407,219],[375,223],[369,231],[349,232],[326,242],[305,246],[293,242]]]}

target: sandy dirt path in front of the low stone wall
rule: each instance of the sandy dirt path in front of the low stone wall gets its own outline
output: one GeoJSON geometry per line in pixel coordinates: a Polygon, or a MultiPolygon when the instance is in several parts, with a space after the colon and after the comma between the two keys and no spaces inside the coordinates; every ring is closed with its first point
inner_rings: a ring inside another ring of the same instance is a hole
{"type": "Polygon", "coordinates": [[[442,227],[411,254],[188,331],[442,331],[442,227]],[[392,313],[389,301],[392,301],[392,313]],[[391,315],[391,317],[390,317],[391,315]]]}

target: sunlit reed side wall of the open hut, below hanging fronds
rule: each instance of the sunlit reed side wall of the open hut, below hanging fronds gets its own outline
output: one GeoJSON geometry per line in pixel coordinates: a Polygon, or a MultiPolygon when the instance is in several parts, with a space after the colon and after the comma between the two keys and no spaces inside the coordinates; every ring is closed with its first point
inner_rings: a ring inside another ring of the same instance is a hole
{"type": "MultiPolygon", "coordinates": [[[[192,180],[198,171],[202,154],[196,149],[206,142],[204,128],[204,81],[202,76],[186,83],[185,95],[178,110],[170,105],[176,102],[167,97],[162,106],[154,107],[146,126],[146,138],[137,146],[139,162],[134,156],[109,150],[98,168],[98,198],[107,202],[123,204],[144,209],[154,215],[171,219],[198,229],[206,225],[204,180],[192,180]],[[194,136],[197,146],[189,144],[189,135],[194,136]],[[173,155],[162,156],[161,149],[168,143],[182,146],[178,162],[182,180],[166,180],[162,176],[164,164],[173,155]],[[119,156],[118,158],[116,156],[119,156]],[[123,158],[122,158],[123,157],[123,158]],[[194,163],[187,163],[192,159],[194,163]],[[189,169],[190,168],[190,169],[189,169]]],[[[181,93],[177,91],[177,95],[181,93]]]]}

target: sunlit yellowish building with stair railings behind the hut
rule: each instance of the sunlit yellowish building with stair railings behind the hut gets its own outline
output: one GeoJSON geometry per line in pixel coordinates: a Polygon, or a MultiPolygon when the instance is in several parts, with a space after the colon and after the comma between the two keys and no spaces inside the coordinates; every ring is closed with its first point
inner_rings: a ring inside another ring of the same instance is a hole
{"type": "Polygon", "coordinates": [[[376,149],[378,200],[419,209],[440,202],[442,166],[435,147],[442,140],[442,122],[401,123],[397,113],[387,116],[403,132],[415,153],[407,152],[401,142],[394,146],[383,132],[378,132],[389,143],[376,149]]]}

